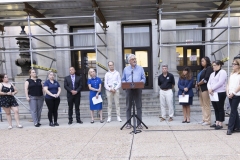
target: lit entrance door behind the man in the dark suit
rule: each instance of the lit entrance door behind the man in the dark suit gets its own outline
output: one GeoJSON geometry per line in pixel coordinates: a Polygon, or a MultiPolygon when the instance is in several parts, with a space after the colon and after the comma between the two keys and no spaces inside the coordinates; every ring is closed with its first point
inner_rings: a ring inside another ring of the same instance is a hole
{"type": "Polygon", "coordinates": [[[88,70],[96,70],[96,53],[94,50],[74,51],[72,54],[72,65],[76,69],[76,75],[81,76],[82,91],[88,91],[88,70]]]}

